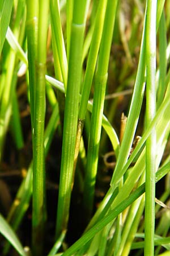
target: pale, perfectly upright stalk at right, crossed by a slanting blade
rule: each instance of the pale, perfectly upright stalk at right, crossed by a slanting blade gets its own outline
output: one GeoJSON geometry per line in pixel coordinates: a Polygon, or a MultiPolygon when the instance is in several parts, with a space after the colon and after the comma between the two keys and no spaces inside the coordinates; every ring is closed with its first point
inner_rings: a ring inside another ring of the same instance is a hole
{"type": "MultiPolygon", "coordinates": [[[[146,126],[156,113],[156,1],[147,2],[146,19],[146,126]]],[[[147,128],[146,127],[146,128],[147,128]]],[[[154,255],[156,127],[146,141],[145,256],[154,255]]]]}

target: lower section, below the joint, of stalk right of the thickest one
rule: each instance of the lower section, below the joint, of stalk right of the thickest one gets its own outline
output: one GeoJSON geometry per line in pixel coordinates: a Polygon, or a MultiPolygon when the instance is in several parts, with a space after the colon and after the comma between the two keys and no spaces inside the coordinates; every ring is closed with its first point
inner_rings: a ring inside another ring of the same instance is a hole
{"type": "Polygon", "coordinates": [[[84,209],[87,220],[90,219],[95,192],[95,180],[98,164],[99,142],[101,133],[101,122],[104,108],[105,85],[107,82],[106,76],[98,76],[98,81],[95,81],[95,88],[99,89],[95,93],[94,106],[92,110],[90,141],[88,143],[86,176],[84,182],[84,209]]]}

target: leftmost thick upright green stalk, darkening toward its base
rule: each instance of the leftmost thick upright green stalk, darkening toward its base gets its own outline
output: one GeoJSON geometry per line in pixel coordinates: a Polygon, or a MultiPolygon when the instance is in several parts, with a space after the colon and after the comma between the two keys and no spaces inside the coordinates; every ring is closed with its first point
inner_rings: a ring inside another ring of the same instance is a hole
{"type": "Polygon", "coordinates": [[[45,71],[46,38],[48,30],[49,1],[39,1],[39,22],[36,55],[36,89],[33,118],[33,201],[32,246],[35,255],[42,254],[45,210],[45,71]]]}

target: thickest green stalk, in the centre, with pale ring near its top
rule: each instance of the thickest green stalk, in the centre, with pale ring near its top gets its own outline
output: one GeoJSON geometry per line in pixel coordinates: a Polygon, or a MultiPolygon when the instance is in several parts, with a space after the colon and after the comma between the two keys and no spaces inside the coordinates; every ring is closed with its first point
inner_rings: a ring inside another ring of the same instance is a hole
{"type": "Polygon", "coordinates": [[[59,180],[59,196],[57,209],[56,237],[67,229],[73,181],[75,138],[78,120],[79,90],[82,75],[82,51],[86,0],[74,1],[73,22],[69,53],[69,73],[65,102],[65,118],[63,125],[61,173],[59,180]]]}

